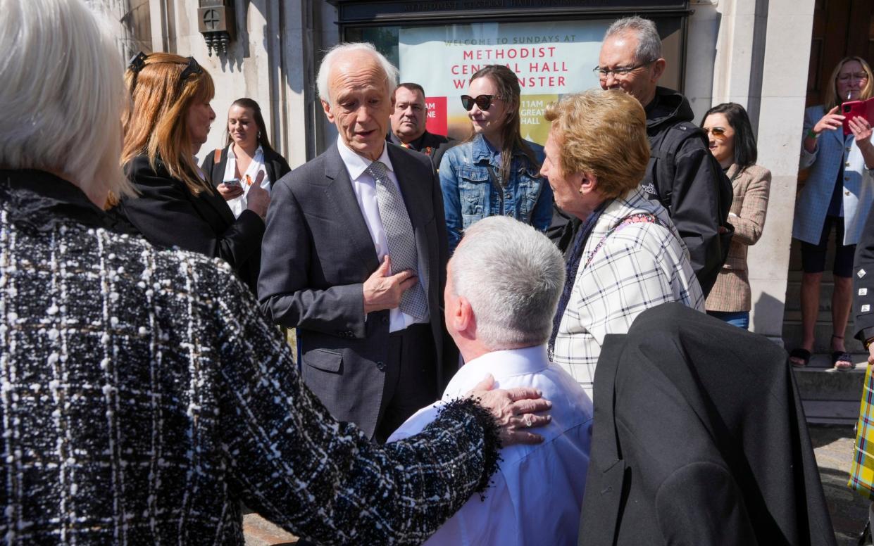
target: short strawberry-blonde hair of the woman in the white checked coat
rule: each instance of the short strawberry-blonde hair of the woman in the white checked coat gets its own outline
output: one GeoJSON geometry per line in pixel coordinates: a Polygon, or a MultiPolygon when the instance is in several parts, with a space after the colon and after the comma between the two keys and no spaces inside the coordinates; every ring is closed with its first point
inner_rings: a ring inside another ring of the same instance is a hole
{"type": "Polygon", "coordinates": [[[559,162],[567,173],[590,173],[607,199],[634,190],[649,163],[647,117],[641,103],[619,89],[566,95],[546,107],[559,162]]]}

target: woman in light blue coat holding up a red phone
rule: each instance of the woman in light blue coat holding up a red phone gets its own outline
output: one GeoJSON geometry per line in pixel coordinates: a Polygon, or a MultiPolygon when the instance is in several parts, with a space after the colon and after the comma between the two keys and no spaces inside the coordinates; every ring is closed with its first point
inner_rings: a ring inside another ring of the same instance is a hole
{"type": "Polygon", "coordinates": [[[853,362],[843,336],[850,321],[853,297],[853,254],[865,218],[874,204],[874,144],[871,124],[863,117],[848,120],[850,134],[843,134],[841,105],[871,99],[874,74],[861,57],[841,59],[831,73],[825,104],[804,111],[801,169],[808,178],[795,202],[792,237],[801,242],[801,346],[789,360],[805,366],[815,349],[820,284],[825,270],[829,234],[835,232],[835,290],[831,296],[831,364],[850,370],[853,362]]]}

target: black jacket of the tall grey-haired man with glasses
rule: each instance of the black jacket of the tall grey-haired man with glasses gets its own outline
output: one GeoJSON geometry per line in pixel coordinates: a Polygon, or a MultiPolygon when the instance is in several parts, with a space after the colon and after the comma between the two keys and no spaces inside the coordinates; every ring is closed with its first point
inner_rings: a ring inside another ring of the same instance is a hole
{"type": "Polygon", "coordinates": [[[731,243],[730,226],[722,236],[718,229],[725,225],[732,205],[732,183],[708,149],[703,131],[690,123],[695,114],[682,94],[656,87],[646,113],[651,156],[641,185],[651,199],[668,209],[689,248],[701,289],[709,294],[731,243]],[[686,135],[668,138],[675,126],[686,135]]]}

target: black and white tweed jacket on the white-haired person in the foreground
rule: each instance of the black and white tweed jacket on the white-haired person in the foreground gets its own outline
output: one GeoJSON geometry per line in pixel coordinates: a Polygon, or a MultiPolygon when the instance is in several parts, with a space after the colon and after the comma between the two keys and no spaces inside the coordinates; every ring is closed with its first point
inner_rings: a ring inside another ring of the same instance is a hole
{"type": "Polygon", "coordinates": [[[371,444],[225,262],[109,221],[70,183],[0,170],[5,543],[242,543],[240,501],[316,543],[420,543],[485,487],[481,406],[371,444]]]}

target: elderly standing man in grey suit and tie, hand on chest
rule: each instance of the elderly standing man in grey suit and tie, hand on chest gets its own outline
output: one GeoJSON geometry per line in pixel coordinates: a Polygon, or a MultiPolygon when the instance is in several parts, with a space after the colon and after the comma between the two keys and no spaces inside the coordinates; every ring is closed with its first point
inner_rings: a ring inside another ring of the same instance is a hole
{"type": "Polygon", "coordinates": [[[397,76],[370,44],[325,56],[319,95],[339,135],[274,184],[258,284],[267,317],[297,328],[309,388],[378,441],[457,369],[440,183],[427,156],[385,142],[397,76]]]}

